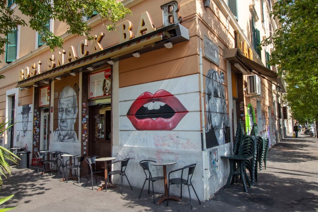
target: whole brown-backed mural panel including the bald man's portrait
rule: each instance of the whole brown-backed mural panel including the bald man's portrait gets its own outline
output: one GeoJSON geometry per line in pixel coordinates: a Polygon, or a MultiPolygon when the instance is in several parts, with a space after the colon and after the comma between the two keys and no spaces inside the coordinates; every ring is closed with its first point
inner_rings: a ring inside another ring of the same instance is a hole
{"type": "Polygon", "coordinates": [[[57,116],[54,114],[53,141],[78,143],[78,85],[63,86],[65,83],[59,83],[54,86],[54,92],[58,93],[58,101],[54,102],[58,104],[54,106],[57,116]]]}

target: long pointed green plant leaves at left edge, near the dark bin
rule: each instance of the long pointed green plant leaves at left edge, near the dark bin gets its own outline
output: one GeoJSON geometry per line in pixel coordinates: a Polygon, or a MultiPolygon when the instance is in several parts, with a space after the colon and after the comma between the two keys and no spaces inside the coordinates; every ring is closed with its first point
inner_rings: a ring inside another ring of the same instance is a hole
{"type": "MultiPolygon", "coordinates": [[[[6,121],[6,119],[0,121],[0,134],[12,127],[14,124],[5,127],[11,120],[6,121]]],[[[17,163],[17,155],[13,154],[10,150],[0,146],[0,185],[3,184],[2,175],[7,178],[8,175],[11,175],[11,168],[8,161],[17,163]]]]}

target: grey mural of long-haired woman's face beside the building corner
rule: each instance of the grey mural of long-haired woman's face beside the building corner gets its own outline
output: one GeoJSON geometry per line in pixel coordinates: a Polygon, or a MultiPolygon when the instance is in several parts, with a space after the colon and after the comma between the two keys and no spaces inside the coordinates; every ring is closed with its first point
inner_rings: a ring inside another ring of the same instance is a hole
{"type": "Polygon", "coordinates": [[[208,71],[205,85],[207,147],[214,147],[230,142],[229,116],[224,87],[217,71],[214,69],[208,71]]]}

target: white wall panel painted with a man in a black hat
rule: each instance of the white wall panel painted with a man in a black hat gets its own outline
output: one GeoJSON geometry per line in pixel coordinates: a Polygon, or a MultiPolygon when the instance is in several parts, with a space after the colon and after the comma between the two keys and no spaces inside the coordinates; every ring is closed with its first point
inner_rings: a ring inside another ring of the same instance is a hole
{"type": "Polygon", "coordinates": [[[32,148],[32,104],[18,106],[17,120],[22,120],[17,124],[17,147],[32,148]]]}

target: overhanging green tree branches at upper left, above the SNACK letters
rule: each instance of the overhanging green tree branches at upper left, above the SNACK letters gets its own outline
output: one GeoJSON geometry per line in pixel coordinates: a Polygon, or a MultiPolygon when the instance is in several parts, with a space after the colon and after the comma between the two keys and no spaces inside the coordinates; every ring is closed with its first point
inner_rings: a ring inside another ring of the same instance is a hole
{"type": "MultiPolygon", "coordinates": [[[[131,11],[123,6],[122,3],[116,0],[16,0],[17,8],[30,18],[29,26],[38,31],[43,32],[46,36],[43,41],[50,46],[51,51],[54,47],[62,48],[63,39],[45,28],[45,24],[50,19],[59,20],[67,24],[66,33],[87,36],[88,39],[93,39],[90,36],[91,27],[87,25],[83,17],[92,16],[96,11],[101,18],[110,20],[111,23],[105,24],[107,31],[115,29],[115,23],[125,18],[131,11]]],[[[11,29],[17,28],[18,25],[26,25],[25,21],[14,15],[14,11],[7,7],[6,0],[0,0],[1,15],[0,15],[0,54],[3,54],[3,46],[7,42],[5,35],[11,29]],[[3,38],[4,37],[4,38],[3,38]]]]}

